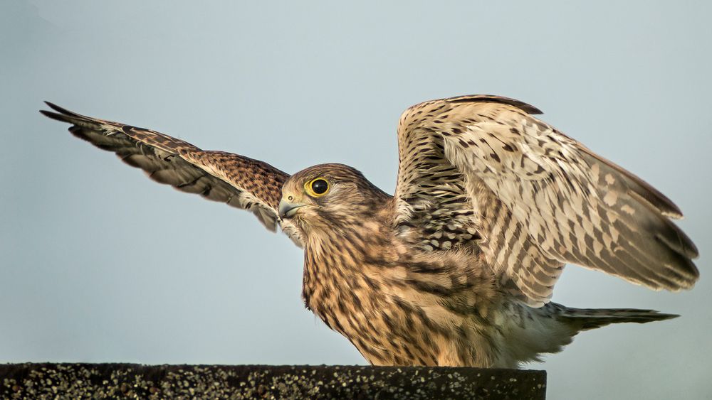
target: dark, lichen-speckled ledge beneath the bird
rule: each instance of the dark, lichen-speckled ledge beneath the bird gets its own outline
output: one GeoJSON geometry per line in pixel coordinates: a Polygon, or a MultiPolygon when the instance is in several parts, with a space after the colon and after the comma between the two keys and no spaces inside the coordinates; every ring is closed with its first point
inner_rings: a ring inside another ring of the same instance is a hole
{"type": "Polygon", "coordinates": [[[544,399],[546,372],[449,367],[0,364],[2,399],[544,399]]]}

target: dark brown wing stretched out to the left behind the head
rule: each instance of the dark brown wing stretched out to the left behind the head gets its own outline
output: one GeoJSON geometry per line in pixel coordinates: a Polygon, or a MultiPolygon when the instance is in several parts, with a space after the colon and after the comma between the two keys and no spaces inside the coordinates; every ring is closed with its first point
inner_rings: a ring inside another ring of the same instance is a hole
{"type": "MultiPolygon", "coordinates": [[[[150,129],[85,117],[47,102],[55,112],[42,114],[72,124],[69,131],[103,150],[112,151],[125,163],[141,168],[159,183],[208,200],[225,202],[251,211],[275,231],[282,185],[289,175],[277,168],[224,151],[203,151],[172,136],[150,129]]],[[[283,230],[301,246],[299,232],[288,222],[283,230]]]]}

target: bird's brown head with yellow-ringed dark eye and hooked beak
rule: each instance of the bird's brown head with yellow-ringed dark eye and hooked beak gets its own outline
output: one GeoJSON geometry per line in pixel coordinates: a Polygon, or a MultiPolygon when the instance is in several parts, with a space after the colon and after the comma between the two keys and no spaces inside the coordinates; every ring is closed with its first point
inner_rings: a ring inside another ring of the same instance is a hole
{"type": "Polygon", "coordinates": [[[279,216],[305,231],[328,230],[381,209],[388,198],[355,168],[321,164],[295,173],[284,183],[279,216]]]}

